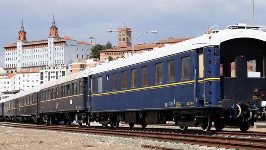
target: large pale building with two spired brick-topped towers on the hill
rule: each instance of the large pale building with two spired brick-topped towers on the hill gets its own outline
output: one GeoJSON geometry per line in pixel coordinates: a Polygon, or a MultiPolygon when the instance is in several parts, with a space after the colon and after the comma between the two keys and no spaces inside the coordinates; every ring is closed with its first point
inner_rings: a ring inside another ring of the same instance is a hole
{"type": "Polygon", "coordinates": [[[27,40],[23,21],[18,32],[16,43],[4,47],[5,71],[18,72],[25,68],[45,68],[71,64],[74,59],[86,58],[90,55],[95,38],[90,37],[88,42],[76,41],[69,36],[58,35],[58,28],[53,18],[46,39],[27,40]]]}

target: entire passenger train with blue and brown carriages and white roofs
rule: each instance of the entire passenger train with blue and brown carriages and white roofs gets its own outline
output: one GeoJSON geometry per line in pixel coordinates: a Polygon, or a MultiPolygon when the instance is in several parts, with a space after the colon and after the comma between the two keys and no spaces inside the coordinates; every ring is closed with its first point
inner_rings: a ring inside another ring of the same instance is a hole
{"type": "Polygon", "coordinates": [[[202,36],[86,68],[0,101],[0,120],[114,128],[173,121],[181,130],[209,131],[213,123],[217,131],[245,132],[266,119],[264,29],[215,25],[202,36]]]}

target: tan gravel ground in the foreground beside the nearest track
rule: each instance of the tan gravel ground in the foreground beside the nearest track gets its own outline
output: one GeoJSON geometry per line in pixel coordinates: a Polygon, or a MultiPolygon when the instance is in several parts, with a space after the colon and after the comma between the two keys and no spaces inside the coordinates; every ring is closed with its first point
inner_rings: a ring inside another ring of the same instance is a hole
{"type": "Polygon", "coordinates": [[[0,126],[0,149],[132,149],[144,150],[141,145],[154,145],[187,150],[224,150],[197,146],[193,143],[157,141],[145,138],[128,138],[107,135],[91,135],[69,132],[44,131],[0,126]]]}

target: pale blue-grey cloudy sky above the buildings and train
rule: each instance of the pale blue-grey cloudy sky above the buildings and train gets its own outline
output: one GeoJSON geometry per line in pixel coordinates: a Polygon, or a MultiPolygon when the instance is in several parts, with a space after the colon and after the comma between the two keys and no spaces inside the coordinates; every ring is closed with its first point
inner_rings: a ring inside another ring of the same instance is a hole
{"type": "MultiPolygon", "coordinates": [[[[255,25],[266,26],[266,1],[255,0],[255,25]]],[[[0,66],[4,65],[4,46],[16,42],[23,18],[27,39],[43,39],[49,35],[53,14],[59,36],[97,44],[110,41],[117,45],[117,34],[108,29],[132,29],[136,43],[152,43],[160,39],[197,37],[208,27],[252,24],[251,0],[246,1],[0,1],[0,66]]]]}

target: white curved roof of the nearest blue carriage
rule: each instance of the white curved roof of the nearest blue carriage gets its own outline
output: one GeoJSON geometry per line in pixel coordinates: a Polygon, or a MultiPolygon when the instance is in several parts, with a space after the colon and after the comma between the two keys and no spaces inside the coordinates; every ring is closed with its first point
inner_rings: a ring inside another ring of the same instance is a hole
{"type": "Polygon", "coordinates": [[[241,28],[237,28],[235,26],[229,25],[228,28],[224,30],[216,30],[215,32],[204,34],[196,38],[191,38],[189,40],[179,42],[173,45],[157,48],[153,51],[148,51],[125,59],[118,59],[107,64],[99,65],[95,68],[92,68],[89,75],[95,75],[101,72],[106,72],[142,62],[147,62],[153,59],[162,58],[197,48],[202,48],[211,45],[220,45],[221,42],[234,38],[256,38],[262,41],[266,41],[266,32],[256,30],[258,28],[261,28],[261,26],[254,26],[257,27],[255,29],[251,26],[240,26],[241,28]],[[230,29],[231,26],[233,26],[232,29],[230,29]],[[251,27],[252,29],[249,27],[251,27]]]}

